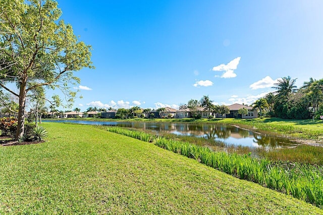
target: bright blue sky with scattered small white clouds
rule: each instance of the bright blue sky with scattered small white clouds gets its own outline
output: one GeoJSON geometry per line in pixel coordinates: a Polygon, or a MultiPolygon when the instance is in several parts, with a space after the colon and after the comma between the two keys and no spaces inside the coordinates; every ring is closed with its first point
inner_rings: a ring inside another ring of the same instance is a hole
{"type": "Polygon", "coordinates": [[[63,1],[95,69],[74,107],[251,104],[286,76],[323,78],[323,1],[63,1]]]}

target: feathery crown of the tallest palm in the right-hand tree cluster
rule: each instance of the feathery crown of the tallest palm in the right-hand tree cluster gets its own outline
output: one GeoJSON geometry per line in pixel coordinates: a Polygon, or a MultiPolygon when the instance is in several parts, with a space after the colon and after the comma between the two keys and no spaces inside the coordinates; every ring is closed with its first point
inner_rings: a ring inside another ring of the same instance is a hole
{"type": "Polygon", "coordinates": [[[279,97],[288,97],[289,94],[297,92],[295,82],[296,79],[292,79],[290,76],[284,77],[281,80],[278,80],[278,83],[274,84],[276,87],[272,88],[277,90],[275,93],[277,93],[279,97]]]}

